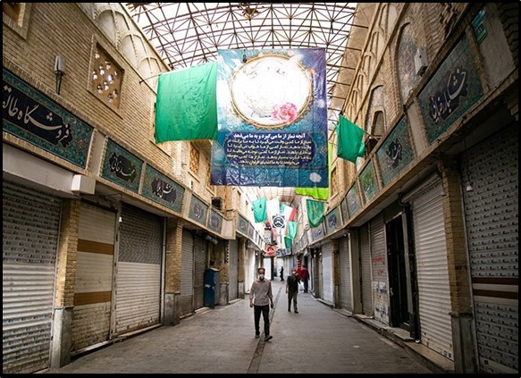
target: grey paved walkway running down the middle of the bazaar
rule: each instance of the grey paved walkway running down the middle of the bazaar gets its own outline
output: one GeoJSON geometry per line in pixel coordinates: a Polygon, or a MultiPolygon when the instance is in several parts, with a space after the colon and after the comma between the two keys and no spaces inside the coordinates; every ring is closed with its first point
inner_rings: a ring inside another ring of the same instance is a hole
{"type": "MultiPolygon", "coordinates": [[[[431,374],[405,349],[310,293],[288,312],[284,283],[273,281],[273,340],[255,338],[248,298],[201,309],[97,349],[48,374],[431,374]]],[[[262,330],[262,318],[261,318],[262,330]]]]}

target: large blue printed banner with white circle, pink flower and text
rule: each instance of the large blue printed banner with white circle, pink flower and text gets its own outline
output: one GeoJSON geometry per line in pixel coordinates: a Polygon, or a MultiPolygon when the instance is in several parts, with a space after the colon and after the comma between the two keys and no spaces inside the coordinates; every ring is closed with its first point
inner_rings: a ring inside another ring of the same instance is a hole
{"type": "Polygon", "coordinates": [[[213,185],[327,188],[325,49],[219,50],[213,185]]]}

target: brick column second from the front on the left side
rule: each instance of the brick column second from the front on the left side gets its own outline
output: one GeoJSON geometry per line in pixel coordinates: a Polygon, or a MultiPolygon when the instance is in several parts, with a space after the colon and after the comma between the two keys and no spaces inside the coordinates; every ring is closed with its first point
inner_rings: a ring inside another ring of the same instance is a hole
{"type": "Polygon", "coordinates": [[[164,256],[164,325],[181,322],[181,257],[183,221],[166,220],[166,248],[164,256]]]}

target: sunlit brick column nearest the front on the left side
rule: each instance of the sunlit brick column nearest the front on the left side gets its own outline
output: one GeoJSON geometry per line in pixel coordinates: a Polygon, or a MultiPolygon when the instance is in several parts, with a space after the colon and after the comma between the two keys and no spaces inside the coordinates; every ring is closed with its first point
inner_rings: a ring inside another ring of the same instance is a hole
{"type": "Polygon", "coordinates": [[[61,367],[71,362],[72,311],[74,309],[80,206],[79,199],[63,199],[55,279],[51,367],[61,367]]]}

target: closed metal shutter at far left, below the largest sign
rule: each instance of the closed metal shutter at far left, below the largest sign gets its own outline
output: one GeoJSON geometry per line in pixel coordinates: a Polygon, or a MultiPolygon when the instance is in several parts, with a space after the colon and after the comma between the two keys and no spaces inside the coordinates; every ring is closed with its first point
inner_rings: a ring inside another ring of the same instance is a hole
{"type": "Polygon", "coordinates": [[[49,367],[60,198],[2,182],[2,372],[49,367]]]}

